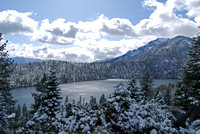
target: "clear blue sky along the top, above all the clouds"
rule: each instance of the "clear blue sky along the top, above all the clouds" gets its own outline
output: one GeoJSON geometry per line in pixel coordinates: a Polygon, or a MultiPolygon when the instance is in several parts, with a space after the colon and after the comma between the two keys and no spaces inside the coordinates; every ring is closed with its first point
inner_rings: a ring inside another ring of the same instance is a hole
{"type": "Polygon", "coordinates": [[[37,21],[64,18],[78,22],[96,19],[105,14],[109,18],[127,18],[136,24],[149,16],[150,10],[142,8],[140,0],[3,0],[1,10],[33,12],[37,21]]]}

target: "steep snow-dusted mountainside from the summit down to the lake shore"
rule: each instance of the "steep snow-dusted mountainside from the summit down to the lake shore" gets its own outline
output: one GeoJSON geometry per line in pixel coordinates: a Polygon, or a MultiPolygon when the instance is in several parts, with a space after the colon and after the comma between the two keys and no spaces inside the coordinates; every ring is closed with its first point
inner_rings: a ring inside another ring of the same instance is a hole
{"type": "Polygon", "coordinates": [[[132,63],[137,66],[135,72],[138,77],[148,71],[154,78],[179,78],[192,42],[193,39],[184,36],[158,38],[110,62],[132,63]]]}

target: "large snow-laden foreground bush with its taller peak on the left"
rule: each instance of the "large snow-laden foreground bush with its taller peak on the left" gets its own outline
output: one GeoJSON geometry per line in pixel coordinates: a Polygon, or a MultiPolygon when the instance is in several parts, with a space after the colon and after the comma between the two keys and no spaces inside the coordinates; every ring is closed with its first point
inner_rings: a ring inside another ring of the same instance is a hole
{"type": "Polygon", "coordinates": [[[104,111],[106,127],[120,133],[176,133],[174,116],[154,102],[136,102],[131,92],[119,84],[104,111]]]}

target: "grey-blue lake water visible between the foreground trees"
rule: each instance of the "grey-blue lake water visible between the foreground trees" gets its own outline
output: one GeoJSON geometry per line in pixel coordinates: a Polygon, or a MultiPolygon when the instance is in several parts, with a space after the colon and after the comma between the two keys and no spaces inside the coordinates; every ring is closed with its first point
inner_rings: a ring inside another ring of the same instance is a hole
{"type": "MultiPolygon", "coordinates": [[[[65,97],[69,97],[69,101],[73,99],[77,102],[80,98],[85,98],[85,102],[90,100],[90,96],[94,96],[99,100],[102,94],[105,94],[108,97],[114,91],[114,87],[120,83],[127,83],[126,79],[108,79],[108,80],[97,80],[97,81],[86,81],[86,82],[75,82],[60,84],[62,90],[63,101],[65,97]]],[[[172,83],[175,84],[177,79],[155,79],[154,87],[157,87],[161,84],[172,83]]],[[[139,80],[137,80],[139,86],[139,80]]],[[[28,107],[33,103],[33,97],[31,93],[35,92],[35,87],[27,88],[17,88],[12,91],[14,99],[17,100],[17,104],[21,106],[25,103],[28,107]]]]}

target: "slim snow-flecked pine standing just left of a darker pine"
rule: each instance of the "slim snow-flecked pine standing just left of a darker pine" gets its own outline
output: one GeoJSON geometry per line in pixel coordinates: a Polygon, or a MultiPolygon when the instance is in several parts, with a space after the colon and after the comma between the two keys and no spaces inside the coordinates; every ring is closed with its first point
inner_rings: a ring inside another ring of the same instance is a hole
{"type": "Polygon", "coordinates": [[[128,81],[127,89],[131,92],[131,98],[136,102],[139,102],[143,99],[143,92],[137,87],[135,74],[133,74],[131,79],[128,81]]]}

